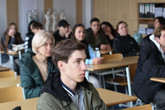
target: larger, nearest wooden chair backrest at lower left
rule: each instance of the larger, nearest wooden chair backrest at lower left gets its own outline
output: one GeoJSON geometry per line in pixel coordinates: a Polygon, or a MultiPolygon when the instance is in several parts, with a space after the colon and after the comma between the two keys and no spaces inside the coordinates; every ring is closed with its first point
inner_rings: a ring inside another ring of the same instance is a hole
{"type": "Polygon", "coordinates": [[[12,86],[0,88],[0,103],[15,100],[23,100],[22,87],[12,86]]]}

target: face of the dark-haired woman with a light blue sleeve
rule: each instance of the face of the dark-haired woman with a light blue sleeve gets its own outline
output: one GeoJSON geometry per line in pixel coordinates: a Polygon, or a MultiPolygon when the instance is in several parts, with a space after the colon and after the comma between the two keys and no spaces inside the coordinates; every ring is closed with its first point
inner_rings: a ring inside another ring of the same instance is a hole
{"type": "Polygon", "coordinates": [[[77,41],[83,41],[85,38],[85,29],[82,26],[79,26],[75,30],[75,38],[77,41]]]}

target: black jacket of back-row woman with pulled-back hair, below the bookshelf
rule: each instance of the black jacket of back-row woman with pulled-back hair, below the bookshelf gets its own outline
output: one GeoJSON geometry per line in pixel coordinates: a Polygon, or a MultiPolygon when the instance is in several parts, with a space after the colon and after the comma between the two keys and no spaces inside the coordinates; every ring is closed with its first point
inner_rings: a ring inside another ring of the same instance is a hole
{"type": "Polygon", "coordinates": [[[123,56],[135,56],[140,51],[140,47],[130,35],[120,36],[113,40],[114,53],[122,53],[123,56]]]}

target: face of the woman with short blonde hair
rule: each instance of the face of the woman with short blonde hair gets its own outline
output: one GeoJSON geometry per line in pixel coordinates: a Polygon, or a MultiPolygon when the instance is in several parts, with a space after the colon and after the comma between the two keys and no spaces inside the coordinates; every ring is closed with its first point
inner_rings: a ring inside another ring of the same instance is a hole
{"type": "Polygon", "coordinates": [[[44,45],[42,45],[37,49],[37,51],[39,54],[43,55],[44,57],[50,57],[52,47],[53,47],[53,40],[48,39],[44,45]]]}

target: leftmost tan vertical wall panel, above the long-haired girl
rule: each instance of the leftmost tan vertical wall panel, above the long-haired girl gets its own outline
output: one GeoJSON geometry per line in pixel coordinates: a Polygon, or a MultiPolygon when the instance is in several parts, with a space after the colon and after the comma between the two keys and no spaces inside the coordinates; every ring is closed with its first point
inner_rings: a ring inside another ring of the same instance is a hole
{"type": "Polygon", "coordinates": [[[6,0],[7,24],[14,22],[19,29],[18,0],[6,0]]]}

